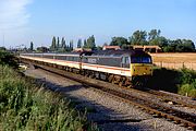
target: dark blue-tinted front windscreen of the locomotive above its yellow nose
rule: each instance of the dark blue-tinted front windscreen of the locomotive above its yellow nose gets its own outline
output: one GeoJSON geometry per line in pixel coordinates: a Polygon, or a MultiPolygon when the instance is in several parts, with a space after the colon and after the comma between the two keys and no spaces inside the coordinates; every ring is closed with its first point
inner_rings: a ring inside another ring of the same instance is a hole
{"type": "Polygon", "coordinates": [[[132,63],[151,63],[150,57],[132,57],[132,63]]]}

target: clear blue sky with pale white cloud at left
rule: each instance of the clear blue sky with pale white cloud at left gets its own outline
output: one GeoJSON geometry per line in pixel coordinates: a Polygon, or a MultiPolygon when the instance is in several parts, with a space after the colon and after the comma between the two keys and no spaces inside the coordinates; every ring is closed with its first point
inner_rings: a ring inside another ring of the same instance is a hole
{"type": "Polygon", "coordinates": [[[196,44],[196,0],[0,0],[0,47],[50,46],[52,36],[96,44],[160,29],[196,44]]]}

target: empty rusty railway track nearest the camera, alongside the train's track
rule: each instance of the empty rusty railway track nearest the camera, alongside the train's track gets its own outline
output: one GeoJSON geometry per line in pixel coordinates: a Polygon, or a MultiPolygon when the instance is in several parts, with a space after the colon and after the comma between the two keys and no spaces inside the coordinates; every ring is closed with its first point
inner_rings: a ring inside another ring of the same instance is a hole
{"type": "Polygon", "coordinates": [[[107,93],[111,97],[115,97],[119,100],[122,100],[124,103],[135,105],[135,106],[148,111],[149,114],[151,114],[156,117],[166,118],[170,121],[174,121],[177,124],[183,124],[184,127],[192,128],[192,129],[196,130],[196,117],[195,117],[195,115],[183,112],[183,111],[173,109],[172,107],[169,107],[169,106],[166,106],[162,104],[154,103],[152,100],[148,100],[145,97],[142,98],[142,97],[128,95],[128,94],[119,92],[117,90],[107,87],[108,85],[106,82],[95,81],[95,80],[91,80],[88,78],[82,78],[81,75],[73,76],[73,73],[65,72],[65,71],[60,70],[60,69],[54,69],[54,68],[51,68],[48,66],[41,66],[38,63],[34,63],[34,64],[36,64],[38,68],[41,68],[44,70],[63,75],[63,76],[71,79],[73,81],[77,81],[87,87],[94,87],[96,90],[100,90],[101,92],[107,93]]]}

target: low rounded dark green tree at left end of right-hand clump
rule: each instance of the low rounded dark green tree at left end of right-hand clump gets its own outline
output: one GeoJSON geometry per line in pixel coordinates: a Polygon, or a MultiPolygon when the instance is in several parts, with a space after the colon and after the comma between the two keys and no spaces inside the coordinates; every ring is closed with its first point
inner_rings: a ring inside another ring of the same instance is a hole
{"type": "Polygon", "coordinates": [[[128,41],[124,37],[112,37],[112,41],[110,43],[110,46],[120,46],[128,45],[128,41]]]}

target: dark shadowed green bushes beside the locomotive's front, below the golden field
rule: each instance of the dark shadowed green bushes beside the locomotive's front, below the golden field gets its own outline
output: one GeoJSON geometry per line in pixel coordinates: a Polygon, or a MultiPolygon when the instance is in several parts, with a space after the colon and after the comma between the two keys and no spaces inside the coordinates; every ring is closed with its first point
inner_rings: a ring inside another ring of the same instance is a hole
{"type": "Polygon", "coordinates": [[[196,71],[186,68],[181,70],[155,68],[148,86],[196,97],[196,71]]]}

